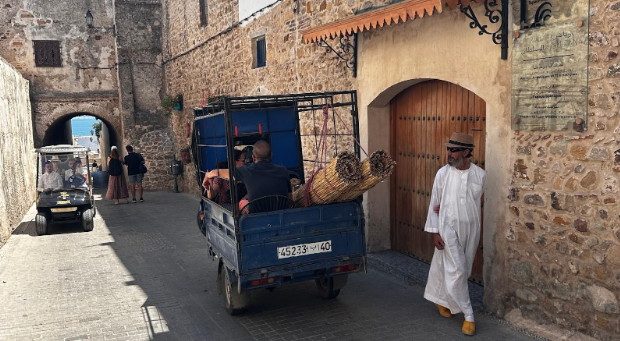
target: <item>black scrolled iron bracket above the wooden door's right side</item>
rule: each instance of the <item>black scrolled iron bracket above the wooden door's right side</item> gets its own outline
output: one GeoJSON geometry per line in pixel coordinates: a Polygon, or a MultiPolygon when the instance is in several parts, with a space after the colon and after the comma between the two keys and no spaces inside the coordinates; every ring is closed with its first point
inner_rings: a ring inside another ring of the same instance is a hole
{"type": "Polygon", "coordinates": [[[508,59],[508,0],[484,1],[484,16],[488,18],[491,24],[500,24],[496,31],[489,31],[489,26],[482,24],[480,20],[478,20],[471,6],[463,6],[463,3],[459,1],[459,7],[461,13],[465,14],[465,16],[471,20],[469,28],[478,29],[479,35],[491,35],[493,42],[497,45],[501,45],[502,59],[508,59]],[[498,8],[500,3],[501,7],[498,8]]]}

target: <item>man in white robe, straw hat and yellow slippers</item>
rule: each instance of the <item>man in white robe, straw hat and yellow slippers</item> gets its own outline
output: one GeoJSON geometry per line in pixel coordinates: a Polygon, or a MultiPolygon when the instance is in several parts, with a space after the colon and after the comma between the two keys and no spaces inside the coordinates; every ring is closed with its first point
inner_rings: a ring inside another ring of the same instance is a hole
{"type": "Polygon", "coordinates": [[[433,234],[431,261],[424,298],[444,317],[463,312],[462,332],[474,335],[476,325],[467,279],[480,241],[480,197],[486,172],[471,163],[471,135],[454,133],[446,143],[448,164],[435,176],[424,231],[433,234]]]}

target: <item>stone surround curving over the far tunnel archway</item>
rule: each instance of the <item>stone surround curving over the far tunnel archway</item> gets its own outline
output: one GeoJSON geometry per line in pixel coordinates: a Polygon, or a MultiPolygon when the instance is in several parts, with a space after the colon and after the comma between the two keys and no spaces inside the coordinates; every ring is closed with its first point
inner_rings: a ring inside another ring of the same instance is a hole
{"type": "Polygon", "coordinates": [[[48,130],[76,116],[94,116],[122,137],[121,116],[117,98],[37,100],[33,102],[35,145],[45,141],[48,130]]]}

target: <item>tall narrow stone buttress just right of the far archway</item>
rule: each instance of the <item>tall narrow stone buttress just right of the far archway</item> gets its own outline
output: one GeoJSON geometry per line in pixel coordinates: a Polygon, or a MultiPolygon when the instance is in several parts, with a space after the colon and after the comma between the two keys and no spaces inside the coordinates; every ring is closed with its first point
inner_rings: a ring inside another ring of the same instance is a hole
{"type": "Polygon", "coordinates": [[[117,0],[118,79],[124,146],[132,145],[147,163],[146,189],[172,189],[169,120],[158,109],[163,95],[162,8],[157,0],[117,0]]]}

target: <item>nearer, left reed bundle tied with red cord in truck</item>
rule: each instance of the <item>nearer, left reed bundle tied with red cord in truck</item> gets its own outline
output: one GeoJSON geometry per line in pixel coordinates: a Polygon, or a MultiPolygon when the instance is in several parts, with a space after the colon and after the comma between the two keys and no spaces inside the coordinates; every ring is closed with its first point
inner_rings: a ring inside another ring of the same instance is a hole
{"type": "Polygon", "coordinates": [[[361,180],[360,160],[350,152],[342,152],[295,191],[293,201],[296,207],[328,204],[357,186],[361,180]]]}

